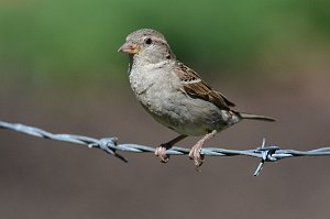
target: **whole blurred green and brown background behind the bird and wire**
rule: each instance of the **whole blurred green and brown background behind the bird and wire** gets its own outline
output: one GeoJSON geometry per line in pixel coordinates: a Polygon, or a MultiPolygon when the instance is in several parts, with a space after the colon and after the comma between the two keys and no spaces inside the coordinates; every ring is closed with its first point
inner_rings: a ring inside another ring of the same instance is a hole
{"type": "MultiPolygon", "coordinates": [[[[117,53],[140,28],[163,32],[178,58],[244,121],[207,146],[283,149],[330,144],[330,7],[327,1],[0,2],[0,120],[55,133],[118,136],[156,146],[176,133],[143,111],[117,53]]],[[[189,138],[180,146],[191,146],[189,138]]],[[[328,218],[329,157],[267,163],[99,150],[0,130],[0,218],[328,218]]]]}

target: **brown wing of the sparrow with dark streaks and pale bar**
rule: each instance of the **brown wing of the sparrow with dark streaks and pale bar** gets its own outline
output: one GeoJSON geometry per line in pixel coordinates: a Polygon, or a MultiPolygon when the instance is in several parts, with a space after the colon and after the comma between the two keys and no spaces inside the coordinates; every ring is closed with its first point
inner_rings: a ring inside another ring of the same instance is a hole
{"type": "Polygon", "coordinates": [[[206,84],[197,73],[185,66],[183,63],[177,63],[176,73],[178,74],[185,91],[194,97],[200,98],[212,102],[220,109],[229,109],[235,105],[229,101],[223,95],[213,90],[208,84],[206,84]]]}

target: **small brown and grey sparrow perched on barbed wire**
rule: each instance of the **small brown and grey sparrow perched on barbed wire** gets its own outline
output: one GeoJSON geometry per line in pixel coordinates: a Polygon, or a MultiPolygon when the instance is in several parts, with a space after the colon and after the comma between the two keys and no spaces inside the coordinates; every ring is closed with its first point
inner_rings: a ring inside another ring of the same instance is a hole
{"type": "Polygon", "coordinates": [[[201,147],[217,132],[243,119],[275,121],[232,110],[234,103],[177,61],[164,35],[155,30],[129,34],[118,52],[130,57],[130,83],[142,107],[157,122],[180,134],[156,149],[155,155],[163,163],[169,158],[166,150],[188,135],[202,136],[189,153],[199,167],[204,161],[201,147]]]}

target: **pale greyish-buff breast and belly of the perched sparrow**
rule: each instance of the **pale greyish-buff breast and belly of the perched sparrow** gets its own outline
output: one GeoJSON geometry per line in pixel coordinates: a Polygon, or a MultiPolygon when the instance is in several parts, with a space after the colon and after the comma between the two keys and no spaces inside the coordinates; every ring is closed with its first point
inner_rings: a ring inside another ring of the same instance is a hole
{"type": "Polygon", "coordinates": [[[202,135],[227,125],[217,106],[185,94],[178,76],[170,70],[132,68],[130,83],[143,108],[180,134],[202,135]]]}

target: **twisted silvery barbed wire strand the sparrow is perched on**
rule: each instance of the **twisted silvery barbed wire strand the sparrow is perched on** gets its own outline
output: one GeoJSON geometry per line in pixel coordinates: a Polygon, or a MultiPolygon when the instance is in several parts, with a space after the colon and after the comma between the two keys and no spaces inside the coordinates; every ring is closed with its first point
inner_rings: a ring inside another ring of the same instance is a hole
{"type": "MultiPolygon", "coordinates": [[[[69,142],[79,145],[86,145],[90,149],[100,149],[108,154],[111,154],[123,162],[128,162],[125,157],[118,154],[118,151],[135,152],[135,153],[154,153],[155,149],[151,146],[140,144],[118,144],[117,138],[102,138],[95,139],[90,136],[77,135],[77,134],[54,134],[45,130],[29,127],[20,123],[9,123],[0,121],[0,129],[7,129],[28,135],[38,136],[43,139],[50,139],[55,141],[69,142]]],[[[189,149],[174,146],[166,151],[168,155],[186,155],[189,154],[189,149]]],[[[277,162],[282,158],[294,156],[329,156],[330,147],[320,147],[310,151],[297,151],[297,150],[282,150],[276,145],[266,146],[266,141],[263,139],[262,145],[253,150],[228,150],[219,147],[204,147],[201,154],[207,156],[238,156],[244,155],[250,157],[260,158],[261,162],[257,165],[254,176],[258,176],[265,162],[277,162]]]]}

